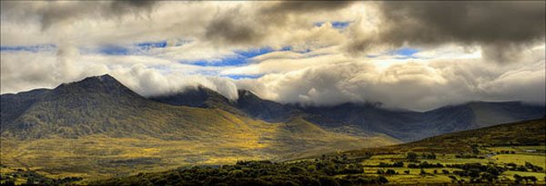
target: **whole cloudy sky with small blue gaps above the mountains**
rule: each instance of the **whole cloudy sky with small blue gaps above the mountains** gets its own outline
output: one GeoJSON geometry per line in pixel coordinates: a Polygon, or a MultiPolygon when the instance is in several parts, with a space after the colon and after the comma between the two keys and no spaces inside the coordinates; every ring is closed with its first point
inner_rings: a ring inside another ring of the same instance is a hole
{"type": "Polygon", "coordinates": [[[2,1],[1,93],[111,74],[279,103],[545,103],[544,1],[2,1]]]}

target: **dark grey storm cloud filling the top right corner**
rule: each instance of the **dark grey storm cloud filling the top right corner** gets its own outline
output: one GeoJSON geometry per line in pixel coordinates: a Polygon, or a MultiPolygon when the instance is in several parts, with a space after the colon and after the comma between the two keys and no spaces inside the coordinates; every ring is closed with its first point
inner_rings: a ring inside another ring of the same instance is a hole
{"type": "Polygon", "coordinates": [[[480,44],[484,57],[510,62],[526,44],[543,42],[544,9],[543,1],[383,2],[379,35],[360,38],[349,51],[365,51],[373,43],[480,44]]]}

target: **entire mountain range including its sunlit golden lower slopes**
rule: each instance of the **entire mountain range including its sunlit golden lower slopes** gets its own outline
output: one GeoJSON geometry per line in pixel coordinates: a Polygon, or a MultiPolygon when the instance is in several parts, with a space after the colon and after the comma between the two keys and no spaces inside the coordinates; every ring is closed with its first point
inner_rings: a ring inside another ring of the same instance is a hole
{"type": "Polygon", "coordinates": [[[543,105],[472,102],[428,112],[372,103],[283,104],[202,86],[143,97],[106,74],[0,95],[2,163],[81,176],[240,159],[289,160],[541,118],[543,105]],[[157,166],[160,165],[160,166],[157,166]]]}

